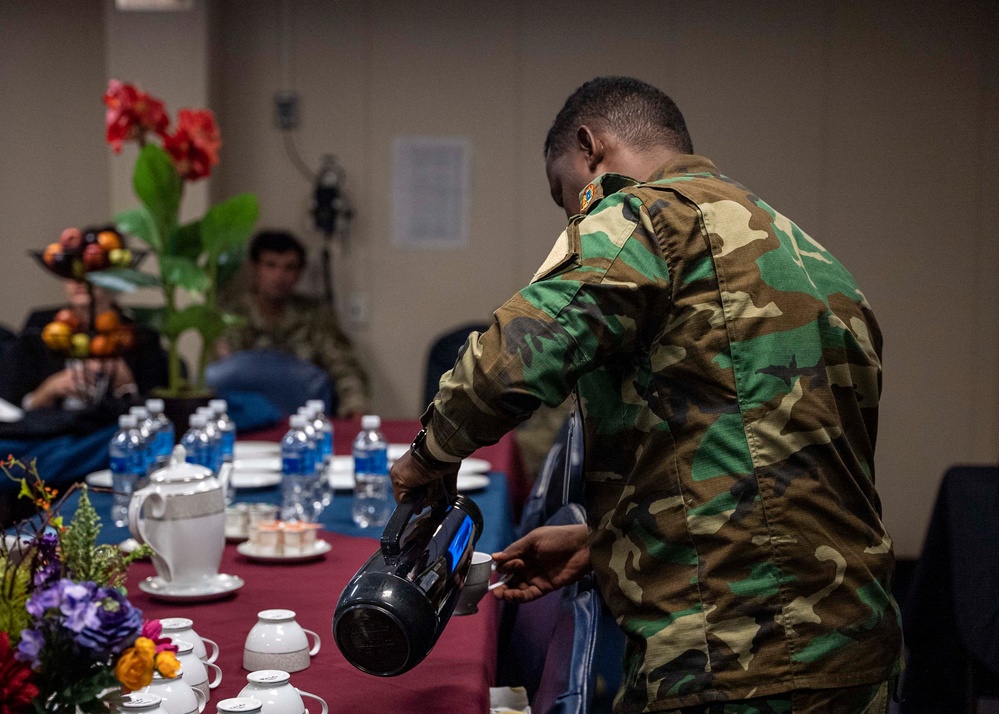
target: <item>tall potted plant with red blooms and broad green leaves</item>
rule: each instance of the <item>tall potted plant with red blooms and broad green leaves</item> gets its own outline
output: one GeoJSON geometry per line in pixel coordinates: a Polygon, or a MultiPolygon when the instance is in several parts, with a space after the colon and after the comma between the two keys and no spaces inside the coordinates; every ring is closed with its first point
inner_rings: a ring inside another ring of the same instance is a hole
{"type": "Polygon", "coordinates": [[[146,244],[157,258],[157,273],[110,268],[87,279],[112,290],[156,288],[162,307],[133,308],[135,316],[166,337],[170,382],[163,396],[206,393],[205,367],[216,340],[238,321],[220,310],[219,282],[242,259],[243,245],[253,232],[259,206],[253,194],[241,194],[209,208],[200,219],[181,224],[179,213],[186,183],[199,181],[219,162],[221,134],[207,109],[181,109],[171,130],[163,102],[138,87],[111,80],[104,95],[107,142],[117,153],[128,141],[139,144],[132,184],[141,206],[115,216],[122,234],[146,244]],[[191,298],[180,306],[179,291],[191,298]],[[181,334],[201,335],[201,355],[192,382],[182,376],[178,342],[181,334]]]}

